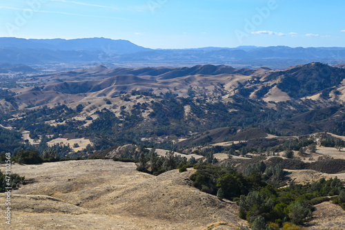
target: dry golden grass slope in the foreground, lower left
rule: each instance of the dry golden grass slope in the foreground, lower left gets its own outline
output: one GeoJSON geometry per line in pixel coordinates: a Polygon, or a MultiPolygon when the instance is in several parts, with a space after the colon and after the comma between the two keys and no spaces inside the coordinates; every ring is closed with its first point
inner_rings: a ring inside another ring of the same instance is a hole
{"type": "MultiPolygon", "coordinates": [[[[13,173],[31,182],[12,193],[10,229],[201,230],[246,225],[238,218],[236,204],[190,186],[193,169],[155,177],[135,168],[112,160],[14,164],[13,173]]],[[[1,195],[1,210],[4,201],[1,195]]],[[[6,227],[0,222],[0,229],[6,227]]]]}

